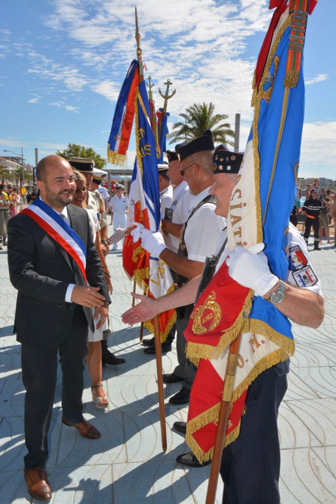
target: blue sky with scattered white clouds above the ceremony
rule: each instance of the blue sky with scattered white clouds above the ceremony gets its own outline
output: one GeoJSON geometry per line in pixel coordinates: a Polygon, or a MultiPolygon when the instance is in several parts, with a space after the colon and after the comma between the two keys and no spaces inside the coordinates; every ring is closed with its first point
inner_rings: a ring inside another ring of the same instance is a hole
{"type": "MultiPolygon", "coordinates": [[[[170,124],[194,102],[214,102],[234,127],[240,149],[253,109],[252,74],[273,11],[266,0],[138,0],[143,55],[158,88],[170,78],[170,124]]],[[[134,2],[5,0],[0,20],[0,152],[35,164],[69,142],[102,156],[115,102],[132,58],[134,2]]],[[[306,110],[299,176],[336,179],[334,19],[336,3],[319,0],[308,20],[304,73],[306,110]]],[[[128,165],[135,142],[131,139],[128,165]]],[[[112,165],[108,165],[112,167],[112,165]]]]}

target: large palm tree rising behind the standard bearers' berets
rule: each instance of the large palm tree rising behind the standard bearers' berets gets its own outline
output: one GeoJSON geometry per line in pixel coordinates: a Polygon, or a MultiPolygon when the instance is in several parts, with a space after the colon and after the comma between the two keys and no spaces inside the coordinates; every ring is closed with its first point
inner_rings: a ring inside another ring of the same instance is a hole
{"type": "Polygon", "coordinates": [[[208,103],[194,103],[185,110],[185,113],[179,114],[183,122],[176,122],[173,126],[173,132],[170,141],[187,141],[200,137],[201,134],[210,129],[213,132],[215,143],[234,145],[234,132],[230,129],[228,122],[222,122],[228,118],[226,114],[215,114],[215,105],[208,103]]]}

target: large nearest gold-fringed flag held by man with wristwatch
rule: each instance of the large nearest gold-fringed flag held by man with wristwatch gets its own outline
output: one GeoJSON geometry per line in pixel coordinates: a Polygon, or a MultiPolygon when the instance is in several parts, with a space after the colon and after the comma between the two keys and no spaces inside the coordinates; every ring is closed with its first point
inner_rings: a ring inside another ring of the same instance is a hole
{"type": "MultiPolygon", "coordinates": [[[[304,118],[304,40],[307,16],[315,5],[315,0],[271,0],[276,11],[258,57],[252,128],[227,219],[228,249],[263,242],[272,272],[283,280],[289,270],[289,216],[296,197],[304,118]]],[[[243,396],[249,385],[295,349],[289,319],[272,303],[235,282],[224,262],[198,298],[184,331],[186,355],[198,365],[186,443],[199,461],[213,454],[229,345],[238,334],[240,347],[224,446],[239,435],[243,396]]]]}

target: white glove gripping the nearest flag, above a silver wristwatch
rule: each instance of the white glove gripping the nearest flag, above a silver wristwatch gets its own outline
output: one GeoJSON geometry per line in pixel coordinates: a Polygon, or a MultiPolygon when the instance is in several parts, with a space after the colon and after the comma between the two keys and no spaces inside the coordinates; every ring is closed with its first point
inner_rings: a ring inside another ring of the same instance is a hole
{"type": "Polygon", "coordinates": [[[257,296],[264,296],[266,292],[272,289],[279,278],[271,273],[268,267],[267,256],[263,252],[259,243],[246,249],[236,246],[226,260],[229,267],[229,275],[233,280],[242,285],[253,289],[257,296]]]}

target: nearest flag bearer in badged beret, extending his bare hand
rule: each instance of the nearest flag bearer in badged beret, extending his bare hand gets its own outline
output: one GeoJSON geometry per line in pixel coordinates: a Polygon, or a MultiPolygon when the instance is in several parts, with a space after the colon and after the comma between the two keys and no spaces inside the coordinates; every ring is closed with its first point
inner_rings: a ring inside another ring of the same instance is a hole
{"type": "MultiPolygon", "coordinates": [[[[215,179],[210,193],[217,200],[216,214],[225,218],[241,159],[241,154],[229,152],[223,145],[214,154],[215,179]],[[236,162],[231,159],[232,156],[236,162]],[[227,158],[228,162],[225,161],[227,158]]],[[[289,262],[285,282],[272,274],[263,252],[252,254],[247,249],[236,247],[228,253],[226,229],[218,237],[214,251],[214,255],[207,259],[203,274],[171,294],[155,300],[135,294],[134,297],[141,302],[122,315],[123,322],[137,324],[161,311],[186,302],[193,303],[227,261],[229,275],[236,282],[273,303],[292,322],[313,328],[321,324],[324,316],[321,286],[312,269],[306,243],[292,224],[288,233],[289,262]]],[[[223,450],[220,469],[224,481],[223,503],[280,503],[277,417],[287,389],[288,371],[288,361],[276,364],[262,371],[249,387],[239,436],[223,450]]],[[[185,432],[186,423],[175,422],[174,427],[185,432]]],[[[191,452],[178,456],[176,460],[191,467],[200,465],[191,452]]]]}

